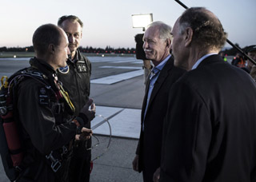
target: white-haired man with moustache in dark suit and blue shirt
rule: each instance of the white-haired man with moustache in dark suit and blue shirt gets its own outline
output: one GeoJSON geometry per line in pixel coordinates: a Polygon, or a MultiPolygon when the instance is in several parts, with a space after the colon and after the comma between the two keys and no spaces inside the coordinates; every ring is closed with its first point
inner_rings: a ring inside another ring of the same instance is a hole
{"type": "Polygon", "coordinates": [[[170,87],[185,72],[174,67],[174,59],[170,55],[170,31],[170,26],[163,22],[153,22],[143,37],[146,58],[153,62],[154,68],[146,81],[142,129],[133,167],[135,171],[143,173],[145,182],[153,181],[154,172],[160,167],[162,124],[170,87]]]}

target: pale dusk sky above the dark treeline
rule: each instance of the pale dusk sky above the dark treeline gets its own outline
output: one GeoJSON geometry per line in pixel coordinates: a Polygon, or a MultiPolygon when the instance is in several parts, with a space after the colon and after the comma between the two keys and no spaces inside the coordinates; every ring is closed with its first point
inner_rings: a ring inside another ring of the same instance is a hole
{"type": "MultiPolygon", "coordinates": [[[[182,0],[186,6],[204,6],[218,16],[228,38],[241,47],[256,44],[256,0],[182,0]]],[[[84,22],[83,47],[135,47],[132,14],[153,14],[154,21],[174,26],[185,10],[174,0],[1,0],[0,47],[32,45],[34,30],[57,24],[62,15],[74,14],[84,22]]],[[[230,46],[230,45],[226,45],[230,46]]]]}

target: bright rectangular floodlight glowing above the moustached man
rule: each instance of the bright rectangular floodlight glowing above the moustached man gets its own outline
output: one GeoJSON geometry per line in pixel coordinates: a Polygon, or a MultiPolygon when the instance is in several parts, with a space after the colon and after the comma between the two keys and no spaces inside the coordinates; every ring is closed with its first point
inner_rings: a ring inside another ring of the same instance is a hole
{"type": "Polygon", "coordinates": [[[133,28],[143,28],[153,22],[153,14],[132,14],[133,28]]]}

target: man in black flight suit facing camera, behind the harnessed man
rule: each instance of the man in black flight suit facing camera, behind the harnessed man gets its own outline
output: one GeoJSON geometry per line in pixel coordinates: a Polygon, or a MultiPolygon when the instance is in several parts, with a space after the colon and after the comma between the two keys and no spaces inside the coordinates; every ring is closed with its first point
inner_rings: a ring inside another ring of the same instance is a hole
{"type": "MultiPolygon", "coordinates": [[[[58,26],[66,32],[70,43],[70,59],[66,67],[58,69],[58,79],[62,81],[64,89],[70,94],[70,100],[74,103],[74,116],[78,116],[79,110],[88,101],[90,95],[91,64],[78,49],[83,23],[78,17],[70,15],[59,18],[58,26]]],[[[90,129],[90,122],[86,128],[90,129]]],[[[71,181],[90,181],[90,146],[91,139],[75,141],[74,156],[70,164],[71,181]]]]}

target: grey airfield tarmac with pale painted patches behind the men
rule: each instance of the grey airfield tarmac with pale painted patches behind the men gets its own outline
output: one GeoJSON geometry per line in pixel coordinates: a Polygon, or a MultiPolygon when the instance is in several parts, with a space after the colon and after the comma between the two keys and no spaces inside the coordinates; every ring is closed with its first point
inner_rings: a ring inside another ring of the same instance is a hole
{"type": "MultiPolygon", "coordinates": [[[[92,62],[90,97],[96,104],[91,182],[142,181],[132,161],[140,133],[144,96],[142,61],[135,57],[88,57],[92,62]],[[97,137],[97,138],[96,138],[97,137]]],[[[28,58],[0,58],[0,77],[29,66],[28,58]]],[[[9,181],[0,161],[0,181],[9,181]]]]}

